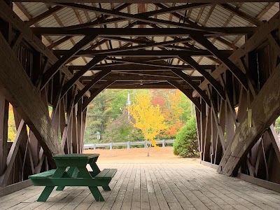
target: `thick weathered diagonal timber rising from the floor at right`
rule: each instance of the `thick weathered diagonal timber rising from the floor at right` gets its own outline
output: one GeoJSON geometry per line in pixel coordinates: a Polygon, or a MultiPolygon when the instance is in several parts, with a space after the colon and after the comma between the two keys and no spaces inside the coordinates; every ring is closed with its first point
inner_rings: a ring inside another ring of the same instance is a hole
{"type": "Polygon", "coordinates": [[[239,169],[241,161],[246,158],[261,135],[272,125],[279,116],[280,111],[280,64],[274,69],[271,76],[262,86],[259,94],[251,102],[251,122],[252,127],[248,127],[248,116],[245,116],[237,130],[235,137],[228,146],[225,155],[221,160],[218,172],[230,176],[239,169]]]}

